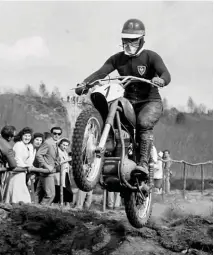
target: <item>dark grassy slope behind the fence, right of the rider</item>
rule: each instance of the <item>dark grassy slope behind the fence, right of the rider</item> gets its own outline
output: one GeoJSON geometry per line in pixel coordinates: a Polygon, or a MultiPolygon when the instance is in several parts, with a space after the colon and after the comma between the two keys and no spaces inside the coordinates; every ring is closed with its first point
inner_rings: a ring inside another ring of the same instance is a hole
{"type": "MultiPolygon", "coordinates": [[[[175,116],[163,116],[155,127],[155,144],[159,150],[169,149],[173,159],[190,163],[213,159],[213,118],[186,114],[183,124],[175,124],[175,116]]],[[[182,176],[183,166],[173,164],[173,176],[182,176]]],[[[206,165],[205,178],[212,178],[212,165],[206,165]]],[[[200,178],[200,166],[187,167],[188,178],[200,178]]]]}

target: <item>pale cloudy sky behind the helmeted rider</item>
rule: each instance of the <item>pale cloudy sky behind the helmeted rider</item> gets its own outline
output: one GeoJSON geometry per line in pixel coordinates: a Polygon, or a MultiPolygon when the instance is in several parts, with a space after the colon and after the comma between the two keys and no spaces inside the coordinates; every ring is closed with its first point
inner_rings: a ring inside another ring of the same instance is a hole
{"type": "Polygon", "coordinates": [[[138,18],[146,27],[144,48],[171,73],[161,96],[175,107],[191,96],[213,108],[212,15],[211,1],[0,2],[0,91],[38,89],[43,81],[70,93],[122,50],[122,26],[138,18]]]}

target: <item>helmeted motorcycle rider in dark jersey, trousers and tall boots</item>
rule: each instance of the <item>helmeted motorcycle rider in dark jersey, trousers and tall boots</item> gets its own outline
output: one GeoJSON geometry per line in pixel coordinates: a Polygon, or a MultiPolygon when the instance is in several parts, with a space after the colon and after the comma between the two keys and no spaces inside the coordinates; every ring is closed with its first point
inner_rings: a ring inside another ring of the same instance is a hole
{"type": "MultiPolygon", "coordinates": [[[[162,58],[151,50],[144,49],[145,26],[138,19],[127,20],[122,29],[123,51],[111,56],[104,65],[77,85],[76,94],[87,92],[82,86],[103,79],[117,70],[119,75],[132,75],[151,80],[160,87],[168,85],[171,76],[162,58]]],[[[153,140],[153,128],[157,124],[163,105],[157,87],[148,83],[133,82],[125,90],[137,117],[137,135],[140,138],[140,162],[137,169],[148,174],[148,160],[153,140]]]]}

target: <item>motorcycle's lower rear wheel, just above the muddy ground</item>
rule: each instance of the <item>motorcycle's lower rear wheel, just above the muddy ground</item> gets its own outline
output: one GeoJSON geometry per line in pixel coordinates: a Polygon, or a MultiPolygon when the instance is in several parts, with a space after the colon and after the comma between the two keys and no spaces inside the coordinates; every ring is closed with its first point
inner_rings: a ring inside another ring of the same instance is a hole
{"type": "Polygon", "coordinates": [[[152,213],[152,190],[142,198],[139,192],[127,191],[124,194],[124,204],[127,218],[135,228],[142,228],[149,220],[152,213]]]}

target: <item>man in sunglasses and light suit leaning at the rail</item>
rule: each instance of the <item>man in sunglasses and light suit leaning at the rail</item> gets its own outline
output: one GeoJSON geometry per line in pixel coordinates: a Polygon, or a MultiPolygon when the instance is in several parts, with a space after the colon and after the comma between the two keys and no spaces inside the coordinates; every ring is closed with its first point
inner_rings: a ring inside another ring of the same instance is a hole
{"type": "Polygon", "coordinates": [[[51,137],[46,139],[36,153],[39,167],[49,170],[49,174],[40,174],[41,185],[37,187],[36,195],[43,193],[41,204],[51,205],[55,197],[54,173],[59,171],[59,153],[57,142],[62,135],[60,127],[51,129],[51,137]]]}

